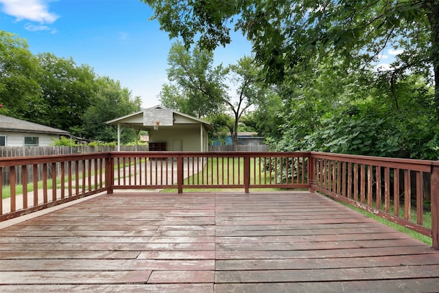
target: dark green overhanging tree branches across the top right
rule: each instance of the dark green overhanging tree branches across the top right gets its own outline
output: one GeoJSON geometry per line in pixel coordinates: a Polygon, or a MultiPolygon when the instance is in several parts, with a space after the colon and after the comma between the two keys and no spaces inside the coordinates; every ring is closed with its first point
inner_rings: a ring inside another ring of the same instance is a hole
{"type": "Polygon", "coordinates": [[[427,1],[175,1],[143,0],[161,29],[186,47],[230,43],[230,23],[252,42],[269,82],[314,67],[328,54],[351,70],[377,62],[386,47],[402,49],[392,71],[430,75],[439,117],[439,2],[427,1]]]}

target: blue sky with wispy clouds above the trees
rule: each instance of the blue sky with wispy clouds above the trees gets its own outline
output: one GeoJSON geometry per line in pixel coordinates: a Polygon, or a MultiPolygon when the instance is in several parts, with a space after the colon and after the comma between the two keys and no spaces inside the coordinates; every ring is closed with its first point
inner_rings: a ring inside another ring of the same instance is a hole
{"type": "MultiPolygon", "coordinates": [[[[33,54],[49,52],[93,67],[141,96],[143,107],[159,104],[167,82],[167,54],[174,40],[149,21],[140,0],[0,0],[0,30],[25,38],[33,54]]],[[[251,54],[239,34],[215,51],[215,63],[235,63],[251,54]]]]}

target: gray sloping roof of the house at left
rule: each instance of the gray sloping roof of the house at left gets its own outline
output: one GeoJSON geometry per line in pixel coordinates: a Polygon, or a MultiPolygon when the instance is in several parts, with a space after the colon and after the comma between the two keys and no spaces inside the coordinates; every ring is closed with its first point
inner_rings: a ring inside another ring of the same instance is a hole
{"type": "Polygon", "coordinates": [[[70,134],[68,131],[65,130],[36,124],[33,122],[20,120],[5,115],[0,115],[0,130],[10,132],[33,132],[60,135],[70,134]]]}

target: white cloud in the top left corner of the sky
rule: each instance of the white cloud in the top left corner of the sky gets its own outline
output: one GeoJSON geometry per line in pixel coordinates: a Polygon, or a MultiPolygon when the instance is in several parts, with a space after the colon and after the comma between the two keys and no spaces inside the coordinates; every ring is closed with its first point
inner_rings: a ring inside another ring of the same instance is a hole
{"type": "Polygon", "coordinates": [[[49,12],[49,0],[0,0],[5,14],[15,16],[17,21],[36,21],[38,23],[54,23],[58,15],[49,12]]]}

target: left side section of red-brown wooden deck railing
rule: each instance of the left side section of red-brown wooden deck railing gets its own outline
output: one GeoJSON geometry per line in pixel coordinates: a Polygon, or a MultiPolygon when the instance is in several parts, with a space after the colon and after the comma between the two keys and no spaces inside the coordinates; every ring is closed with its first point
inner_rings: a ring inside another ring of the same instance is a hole
{"type": "Polygon", "coordinates": [[[0,221],[108,190],[102,176],[110,161],[109,153],[0,158],[0,197],[3,186],[10,193],[0,201],[0,221]]]}

